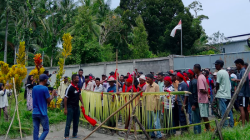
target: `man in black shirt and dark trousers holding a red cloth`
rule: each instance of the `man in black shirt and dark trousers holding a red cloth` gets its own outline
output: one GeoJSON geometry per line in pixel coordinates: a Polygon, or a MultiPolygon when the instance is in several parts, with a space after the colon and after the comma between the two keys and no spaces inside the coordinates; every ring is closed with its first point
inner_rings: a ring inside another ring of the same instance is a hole
{"type": "Polygon", "coordinates": [[[79,100],[82,103],[81,90],[77,83],[79,82],[79,76],[77,74],[72,75],[72,83],[68,86],[65,92],[64,98],[64,114],[67,115],[66,127],[64,137],[69,140],[69,129],[71,121],[73,120],[73,138],[77,138],[78,124],[80,117],[79,100]]]}

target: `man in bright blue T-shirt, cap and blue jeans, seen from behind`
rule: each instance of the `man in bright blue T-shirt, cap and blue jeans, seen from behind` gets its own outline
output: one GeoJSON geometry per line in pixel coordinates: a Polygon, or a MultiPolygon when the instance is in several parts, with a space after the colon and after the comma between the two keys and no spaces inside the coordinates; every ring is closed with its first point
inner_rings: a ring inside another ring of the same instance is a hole
{"type": "Polygon", "coordinates": [[[33,97],[33,139],[34,140],[44,140],[49,133],[49,118],[47,114],[47,104],[50,104],[54,96],[56,96],[56,91],[53,90],[52,95],[50,96],[48,88],[45,86],[49,77],[46,74],[41,74],[39,76],[39,85],[33,87],[32,97],[33,97]],[[40,138],[39,127],[40,124],[43,127],[43,133],[40,138]]]}

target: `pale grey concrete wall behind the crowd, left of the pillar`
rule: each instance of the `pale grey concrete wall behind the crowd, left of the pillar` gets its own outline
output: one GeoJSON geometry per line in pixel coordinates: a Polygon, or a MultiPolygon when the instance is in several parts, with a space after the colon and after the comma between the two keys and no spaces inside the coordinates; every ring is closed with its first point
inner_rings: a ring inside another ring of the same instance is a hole
{"type": "MultiPolygon", "coordinates": [[[[126,75],[127,72],[132,73],[134,69],[138,69],[139,72],[144,74],[154,72],[167,72],[173,69],[173,57],[161,57],[152,59],[135,59],[135,60],[124,60],[118,61],[118,73],[126,75]]],[[[78,72],[79,69],[83,69],[83,75],[93,74],[95,77],[101,77],[102,74],[109,75],[111,71],[116,70],[116,62],[101,62],[81,65],[68,65],[64,67],[64,76],[71,76],[72,72],[78,72]]],[[[34,67],[27,67],[28,74],[34,67]]],[[[59,67],[46,67],[50,73],[59,69],[59,67]]],[[[28,77],[28,76],[27,76],[28,77]]],[[[27,79],[24,79],[25,83],[27,79]]],[[[53,86],[56,81],[56,75],[51,77],[51,85],[53,86]]]]}

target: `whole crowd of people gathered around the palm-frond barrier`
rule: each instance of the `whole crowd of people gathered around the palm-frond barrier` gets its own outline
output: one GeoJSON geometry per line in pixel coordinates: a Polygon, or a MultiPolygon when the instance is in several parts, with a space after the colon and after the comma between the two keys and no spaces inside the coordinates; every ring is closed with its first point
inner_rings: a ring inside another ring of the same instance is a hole
{"type": "MultiPolygon", "coordinates": [[[[148,121],[147,129],[160,129],[164,126],[185,126],[190,124],[209,121],[209,116],[221,118],[226,108],[234,95],[239,82],[241,81],[247,63],[242,59],[234,61],[235,67],[223,68],[224,62],[217,60],[214,65],[216,70],[212,73],[209,68],[202,69],[200,64],[195,64],[193,69],[186,71],[170,70],[167,73],[154,72],[144,75],[143,72],[138,72],[137,69],[133,73],[119,75],[117,71],[110,72],[109,76],[103,74],[101,78],[95,77],[92,74],[83,76],[83,70],[80,69],[78,74],[73,74],[71,80],[65,76],[61,82],[58,91],[50,88],[48,82],[48,71],[39,76],[39,84],[35,84],[34,78],[30,75],[26,82],[27,110],[33,111],[34,124],[34,139],[38,139],[39,125],[43,126],[43,133],[40,139],[46,137],[49,132],[49,122],[47,116],[47,104],[57,97],[62,98],[62,106],[64,113],[67,115],[65,127],[65,139],[69,139],[70,124],[73,121],[73,137],[77,138],[78,124],[80,116],[79,101],[83,106],[81,90],[93,92],[113,92],[122,94],[124,92],[172,92],[172,91],[189,91],[192,94],[185,95],[147,95],[146,96],[146,115],[148,121]],[[117,79],[118,78],[118,79],[117,79]],[[169,99],[171,97],[171,99],[169,99]],[[162,105],[163,103],[163,105],[162,105]],[[163,110],[167,113],[163,115],[163,110]],[[211,112],[209,111],[211,110],[211,112]],[[172,116],[169,116],[172,112],[172,116]],[[186,117],[188,116],[188,117],[186,117]],[[168,120],[166,125],[161,124],[161,119],[168,120]],[[170,120],[169,118],[172,118],[170,120]],[[188,119],[188,120],[187,120],[188,119]]],[[[237,100],[234,102],[234,109],[239,111],[242,125],[245,121],[249,122],[248,104],[249,104],[249,77],[238,94],[237,100]]],[[[4,110],[7,118],[7,94],[11,91],[5,90],[6,86],[0,83],[0,108],[4,110]]],[[[0,112],[1,113],[1,112],[0,112]]],[[[1,114],[0,114],[1,116],[1,114]]],[[[234,126],[234,116],[232,111],[229,113],[229,120],[226,120],[223,127],[234,126]]],[[[129,118],[125,118],[125,128],[128,128],[129,118]]],[[[115,125],[110,125],[115,126],[115,125]]],[[[211,129],[210,124],[205,124],[206,129],[211,129]]],[[[187,131],[187,128],[182,128],[181,132],[187,131]]],[[[194,126],[194,133],[201,133],[201,125],[194,126]]],[[[168,134],[175,134],[175,130],[171,130],[168,134]]],[[[161,131],[150,132],[152,138],[162,138],[161,131]]]]}

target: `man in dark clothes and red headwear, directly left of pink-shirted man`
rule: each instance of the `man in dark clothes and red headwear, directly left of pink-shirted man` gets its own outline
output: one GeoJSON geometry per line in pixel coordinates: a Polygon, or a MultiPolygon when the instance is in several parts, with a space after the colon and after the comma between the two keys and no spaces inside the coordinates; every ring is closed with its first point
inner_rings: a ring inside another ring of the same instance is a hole
{"type": "MultiPolygon", "coordinates": [[[[191,69],[189,69],[187,71],[187,75],[190,79],[188,91],[192,93],[188,97],[188,102],[189,102],[191,109],[192,109],[192,113],[191,113],[192,123],[196,124],[196,123],[201,122],[200,110],[199,110],[199,105],[198,105],[197,79],[195,79],[195,73],[191,69]]],[[[200,125],[194,126],[194,133],[195,134],[201,133],[201,126],[200,125]]]]}

